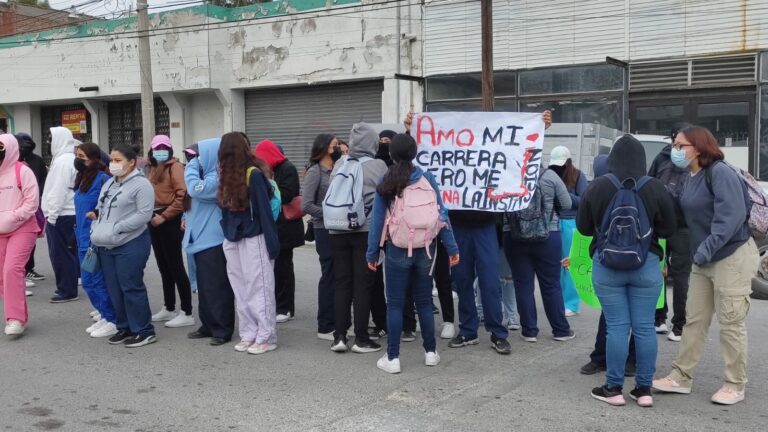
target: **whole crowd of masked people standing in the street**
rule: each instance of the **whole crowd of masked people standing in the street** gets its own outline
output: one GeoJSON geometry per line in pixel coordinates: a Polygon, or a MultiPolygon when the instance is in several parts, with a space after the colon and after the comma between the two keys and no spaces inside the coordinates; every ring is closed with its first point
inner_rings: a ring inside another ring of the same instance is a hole
{"type": "MultiPolygon", "coordinates": [[[[542,119],[549,127],[550,113],[542,119]]],[[[379,133],[356,124],[347,148],[333,135],[318,135],[303,188],[297,168],[278,145],[265,140],[252,148],[241,132],[185,149],[184,165],[164,135],[152,140],[144,162],[133,146],[117,146],[107,155],[55,127],[45,186],[32,171],[33,163],[20,162],[20,149],[29,149],[31,138],[0,135],[5,333],[20,335],[27,325],[25,285],[40,276],[28,260],[36,238],[45,234],[57,287],[51,301],[76,300],[79,277],[95,309],[94,324],[87,328],[91,337],[140,347],[157,340],[153,322],[195,326],[191,276],[200,324],[188,337],[226,344],[235,333],[237,314],[235,350],[267,353],[277,348],[277,323],[296,315],[293,250],[310,240],[321,268],[317,337],[331,342],[332,351],[376,352],[382,349],[377,341],[387,337],[386,354],[377,366],[399,373],[400,341],[415,340],[418,323],[424,363],[436,366],[435,286],[443,317],[439,335],[450,339],[449,347],[478,344],[483,324],[491,347],[509,354],[509,331],[519,329],[529,343],[540,337],[535,280],[553,339],[575,337],[568,317],[579,313],[580,302],[564,258],[578,229],[595,237],[592,278],[603,308],[595,352],[581,370],[607,370],[605,385],[592,396],[623,405],[625,375],[636,375],[630,396],[641,406],[653,404],[651,388],[690,393],[715,314],[726,384],[712,400],[732,404],[744,399],[745,318],[757,249],[747,225],[749,195],[739,174],[721,163],[722,152],[709,131],[686,127],[676,132],[650,172],[642,144],[625,135],[610,155],[595,159],[591,183],[566,147],[555,148],[542,170],[538,198],[532,200],[542,218],[542,232],[534,239],[515,229],[510,222],[514,214],[446,210],[434,177],[413,163],[417,145],[411,123],[409,115],[403,133],[379,133]],[[346,187],[345,181],[348,195],[359,200],[348,207],[359,205],[360,211],[350,210],[339,223],[330,216],[338,213],[329,196],[346,187]],[[602,242],[607,240],[601,240],[606,214],[623,190],[636,194],[644,212],[639,217],[648,225],[641,262],[626,269],[604,259],[602,242]],[[422,213],[408,204],[413,199],[422,200],[422,213]],[[303,213],[309,215],[306,232],[303,213]],[[413,232],[405,243],[398,233],[398,223],[410,223],[409,218],[425,223],[418,228],[424,238],[415,246],[413,232]],[[143,280],[150,250],[164,300],[154,315],[143,280]],[[653,380],[655,333],[667,330],[666,301],[656,310],[663,271],[674,286],[667,337],[680,341],[681,348],[672,372],[653,380]]]]}

